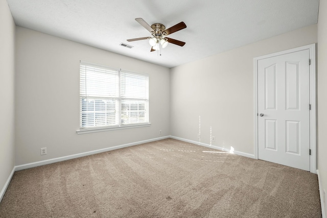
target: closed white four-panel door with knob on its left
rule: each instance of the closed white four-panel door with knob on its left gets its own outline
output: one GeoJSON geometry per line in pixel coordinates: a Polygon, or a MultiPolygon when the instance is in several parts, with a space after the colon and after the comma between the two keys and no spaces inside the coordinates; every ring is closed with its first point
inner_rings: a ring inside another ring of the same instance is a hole
{"type": "Polygon", "coordinates": [[[310,171],[309,49],[258,61],[258,158],[310,171]]]}

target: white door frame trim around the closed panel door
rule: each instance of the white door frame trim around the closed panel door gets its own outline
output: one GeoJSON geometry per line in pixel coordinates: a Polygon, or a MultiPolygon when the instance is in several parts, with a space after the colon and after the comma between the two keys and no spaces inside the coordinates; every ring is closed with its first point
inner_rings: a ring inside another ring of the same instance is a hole
{"type": "MultiPolygon", "coordinates": [[[[309,66],[310,80],[310,172],[316,174],[316,44],[309,44],[295,49],[290,49],[282,52],[276,52],[269,55],[253,58],[254,70],[254,159],[259,157],[259,142],[258,142],[258,61],[265,58],[271,58],[279,55],[285,55],[293,52],[299,52],[309,49],[309,57],[311,60],[309,66]]],[[[309,60],[308,60],[309,61],[309,60]]]]}

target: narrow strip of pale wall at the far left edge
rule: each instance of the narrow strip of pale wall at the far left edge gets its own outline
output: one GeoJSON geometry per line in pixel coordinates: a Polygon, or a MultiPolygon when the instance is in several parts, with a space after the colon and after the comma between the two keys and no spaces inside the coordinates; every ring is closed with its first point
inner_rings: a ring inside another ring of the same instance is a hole
{"type": "Polygon", "coordinates": [[[14,51],[15,23],[7,1],[0,0],[0,192],[15,165],[14,51]]]}

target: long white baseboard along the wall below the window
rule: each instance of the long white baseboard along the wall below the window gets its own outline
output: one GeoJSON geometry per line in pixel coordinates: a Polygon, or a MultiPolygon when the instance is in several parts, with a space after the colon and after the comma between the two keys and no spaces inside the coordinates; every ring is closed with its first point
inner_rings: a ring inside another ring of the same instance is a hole
{"type": "Polygon", "coordinates": [[[64,156],[64,157],[57,157],[57,158],[53,158],[53,159],[49,159],[49,160],[42,160],[42,161],[37,161],[37,162],[33,162],[33,163],[17,165],[15,167],[15,171],[20,171],[21,169],[32,168],[35,166],[41,166],[41,165],[46,165],[46,164],[50,164],[50,163],[56,163],[56,162],[60,162],[60,161],[64,161],[64,160],[70,160],[70,159],[74,159],[74,158],[78,158],[78,157],[84,157],[84,156],[88,156],[88,155],[92,155],[92,154],[99,154],[102,152],[112,151],[112,150],[116,150],[116,149],[122,149],[122,148],[130,147],[130,146],[136,146],[137,144],[143,144],[143,143],[147,143],[147,142],[151,142],[151,141],[157,141],[157,140],[161,140],[161,139],[165,139],[165,138],[169,138],[169,137],[170,136],[153,138],[153,139],[148,139],[148,140],[144,140],[144,141],[137,141],[137,142],[133,142],[133,143],[122,144],[120,146],[99,149],[99,150],[95,150],[95,151],[89,151],[89,152],[84,152],[84,153],[79,153],[79,154],[68,155],[68,156],[64,156]]]}

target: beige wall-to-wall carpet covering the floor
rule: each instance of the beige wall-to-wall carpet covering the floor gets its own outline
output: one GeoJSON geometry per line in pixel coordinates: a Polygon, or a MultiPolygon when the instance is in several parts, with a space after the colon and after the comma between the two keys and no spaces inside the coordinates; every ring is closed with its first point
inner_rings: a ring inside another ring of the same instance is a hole
{"type": "Polygon", "coordinates": [[[0,217],[321,217],[315,174],[165,139],[15,172],[0,217]]]}

